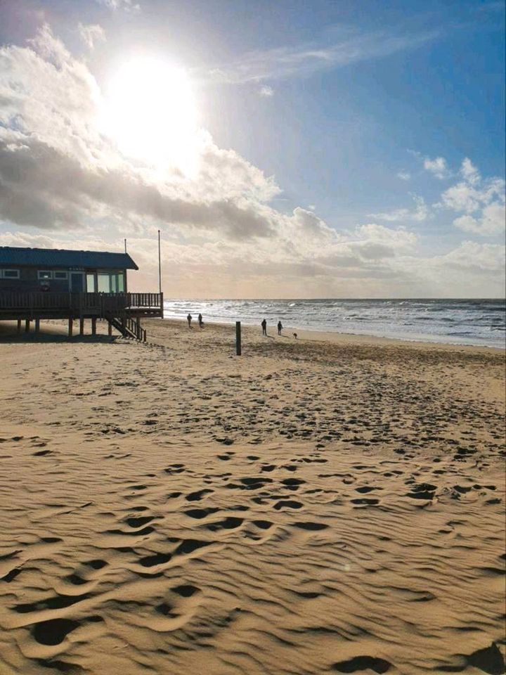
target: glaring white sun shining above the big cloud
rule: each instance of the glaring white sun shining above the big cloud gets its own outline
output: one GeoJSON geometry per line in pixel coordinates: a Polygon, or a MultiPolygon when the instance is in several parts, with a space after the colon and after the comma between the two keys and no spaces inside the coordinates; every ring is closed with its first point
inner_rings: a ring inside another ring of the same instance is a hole
{"type": "Polygon", "coordinates": [[[185,70],[133,58],[105,90],[102,128],[124,155],[156,167],[194,168],[197,105],[185,70]]]}

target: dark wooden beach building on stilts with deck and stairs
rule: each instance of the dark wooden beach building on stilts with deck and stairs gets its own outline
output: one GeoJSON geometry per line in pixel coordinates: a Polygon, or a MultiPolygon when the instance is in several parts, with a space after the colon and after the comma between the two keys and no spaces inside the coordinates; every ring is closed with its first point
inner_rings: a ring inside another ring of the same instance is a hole
{"type": "Polygon", "coordinates": [[[0,321],[18,321],[25,331],[34,321],[36,332],[44,319],[74,321],[84,334],[84,321],[108,322],[109,334],[145,340],[141,319],[163,316],[163,293],[130,293],[127,271],[138,266],[127,253],[72,251],[0,246],[0,321]]]}

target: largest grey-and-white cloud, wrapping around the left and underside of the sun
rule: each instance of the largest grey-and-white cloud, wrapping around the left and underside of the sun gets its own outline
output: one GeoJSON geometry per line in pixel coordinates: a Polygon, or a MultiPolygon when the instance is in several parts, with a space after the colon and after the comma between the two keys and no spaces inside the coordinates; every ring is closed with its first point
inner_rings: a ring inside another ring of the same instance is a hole
{"type": "Polygon", "coordinates": [[[100,135],[100,91],[84,63],[44,27],[31,48],[0,50],[0,216],[42,228],[98,213],[153,217],[233,238],[269,236],[273,179],[200,136],[200,170],[160,176],[133,165],[100,135]]]}

